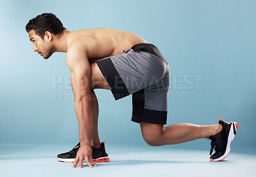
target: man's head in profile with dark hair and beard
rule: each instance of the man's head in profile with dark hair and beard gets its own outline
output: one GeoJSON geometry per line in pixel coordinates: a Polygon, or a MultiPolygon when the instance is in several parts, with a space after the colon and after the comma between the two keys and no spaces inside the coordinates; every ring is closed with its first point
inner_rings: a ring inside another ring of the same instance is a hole
{"type": "Polygon", "coordinates": [[[65,29],[59,18],[52,13],[42,13],[29,20],[26,25],[29,39],[33,42],[33,50],[44,59],[48,59],[54,53],[52,37],[61,34],[65,29]]]}

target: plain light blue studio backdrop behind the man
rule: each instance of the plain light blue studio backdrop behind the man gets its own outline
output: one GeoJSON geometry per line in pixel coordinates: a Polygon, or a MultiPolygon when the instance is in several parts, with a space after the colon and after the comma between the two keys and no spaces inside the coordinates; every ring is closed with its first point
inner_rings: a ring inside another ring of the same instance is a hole
{"type": "MultiPolygon", "coordinates": [[[[0,2],[1,144],[79,141],[65,53],[44,60],[25,31],[29,19],[51,12],[69,31],[122,29],[156,45],[171,70],[168,125],[236,121],[232,150],[255,152],[255,1],[0,2]],[[55,84],[54,78],[63,81],[55,84]]],[[[139,124],[131,122],[131,96],[115,101],[109,90],[95,92],[101,97],[100,139],[147,146],[139,124]]],[[[199,139],[173,147],[210,145],[199,139]]]]}

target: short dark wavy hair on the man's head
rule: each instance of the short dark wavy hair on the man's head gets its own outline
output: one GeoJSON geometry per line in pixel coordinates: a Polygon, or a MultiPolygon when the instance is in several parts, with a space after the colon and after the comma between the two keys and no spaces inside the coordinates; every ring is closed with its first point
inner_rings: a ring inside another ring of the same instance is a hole
{"type": "Polygon", "coordinates": [[[53,13],[42,13],[29,20],[26,25],[26,31],[35,30],[36,34],[44,39],[45,31],[49,31],[52,34],[60,34],[65,27],[53,13]]]}

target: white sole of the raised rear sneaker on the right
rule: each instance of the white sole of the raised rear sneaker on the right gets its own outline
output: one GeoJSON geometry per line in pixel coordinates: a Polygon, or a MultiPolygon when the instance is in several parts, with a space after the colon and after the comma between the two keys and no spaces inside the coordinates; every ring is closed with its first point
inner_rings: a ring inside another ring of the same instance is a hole
{"type": "Polygon", "coordinates": [[[229,134],[228,134],[228,143],[227,143],[227,148],[226,148],[226,152],[224,153],[224,155],[222,155],[221,157],[219,157],[218,159],[210,159],[211,161],[213,162],[218,162],[220,160],[223,160],[225,159],[228,154],[230,153],[230,144],[231,144],[231,141],[233,141],[236,137],[236,132],[237,132],[237,128],[238,128],[238,124],[237,122],[230,122],[232,125],[230,127],[230,131],[229,131],[229,134]]]}

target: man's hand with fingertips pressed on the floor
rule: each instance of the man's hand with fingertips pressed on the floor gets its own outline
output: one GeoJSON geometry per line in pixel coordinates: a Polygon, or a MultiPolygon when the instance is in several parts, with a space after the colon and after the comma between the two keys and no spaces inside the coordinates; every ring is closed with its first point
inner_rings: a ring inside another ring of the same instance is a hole
{"type": "Polygon", "coordinates": [[[74,161],[73,167],[76,167],[77,164],[79,168],[83,167],[84,160],[88,164],[89,167],[97,167],[95,162],[92,159],[92,147],[91,146],[80,146],[77,154],[76,154],[76,160],[74,161]],[[92,166],[92,164],[93,166],[92,166]]]}

